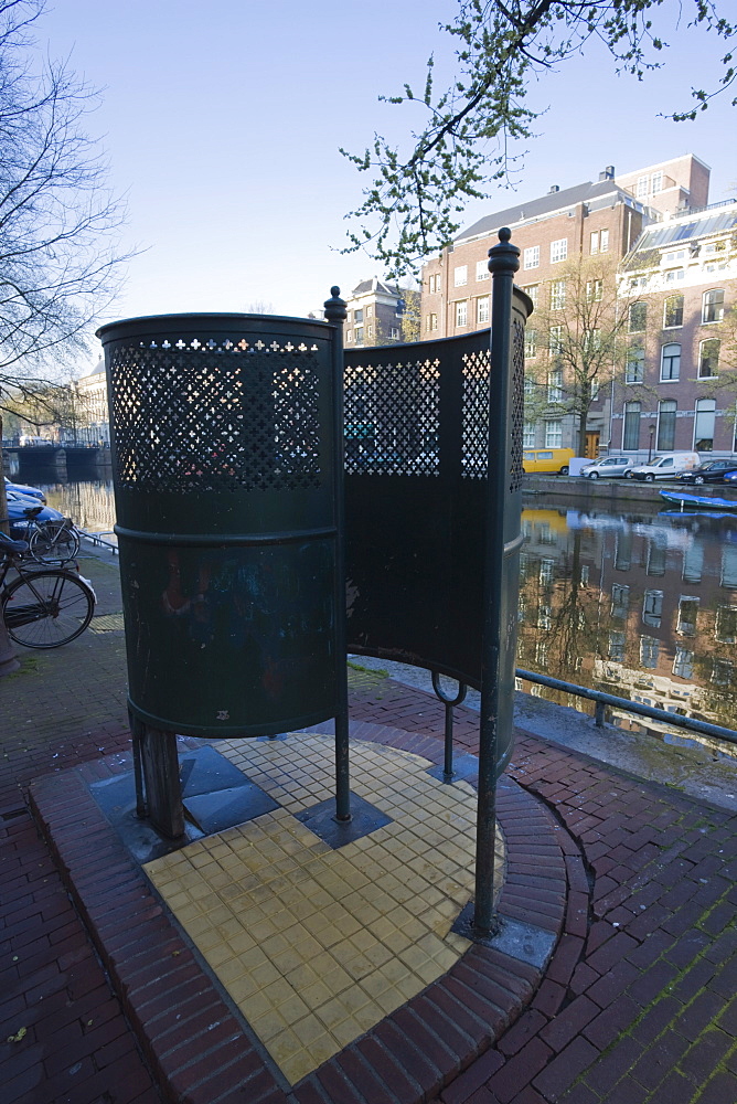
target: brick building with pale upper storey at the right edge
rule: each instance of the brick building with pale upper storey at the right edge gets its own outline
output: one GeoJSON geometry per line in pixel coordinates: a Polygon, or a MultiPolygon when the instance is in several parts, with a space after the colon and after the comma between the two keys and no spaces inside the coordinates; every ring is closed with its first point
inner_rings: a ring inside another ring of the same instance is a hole
{"type": "Polygon", "coordinates": [[[735,452],[737,202],[650,226],[621,273],[639,301],[612,397],[612,448],[735,452]]]}

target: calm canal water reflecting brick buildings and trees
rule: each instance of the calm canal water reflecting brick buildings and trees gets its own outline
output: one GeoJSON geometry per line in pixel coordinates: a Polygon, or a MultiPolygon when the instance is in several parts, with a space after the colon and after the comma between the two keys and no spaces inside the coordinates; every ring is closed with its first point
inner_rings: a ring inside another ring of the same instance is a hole
{"type": "MultiPolygon", "coordinates": [[[[115,523],[109,480],[53,484],[49,503],[87,531],[115,523]]],[[[737,729],[737,513],[530,498],[522,524],[517,666],[737,729]]],[[[520,682],[591,712],[575,696],[520,682]]],[[[643,731],[617,711],[612,723],[643,731]]],[[[648,722],[674,743],[684,733],[648,722]]]]}

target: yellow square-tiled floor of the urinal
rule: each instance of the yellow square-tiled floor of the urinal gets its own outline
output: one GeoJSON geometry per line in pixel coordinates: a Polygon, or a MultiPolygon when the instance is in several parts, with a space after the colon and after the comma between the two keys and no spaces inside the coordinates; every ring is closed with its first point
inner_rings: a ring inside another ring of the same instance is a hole
{"type": "Polygon", "coordinates": [[[476,794],[355,741],[351,788],[393,821],[333,850],[295,818],[334,793],[332,736],[217,750],[281,807],[145,869],[293,1085],[469,946],[450,927],[473,890],[476,794]]]}

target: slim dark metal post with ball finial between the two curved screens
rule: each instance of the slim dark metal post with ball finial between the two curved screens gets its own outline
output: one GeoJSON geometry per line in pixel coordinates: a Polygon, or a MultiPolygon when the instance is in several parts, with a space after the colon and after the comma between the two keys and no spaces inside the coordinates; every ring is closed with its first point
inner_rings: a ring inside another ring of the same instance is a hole
{"type": "Polygon", "coordinates": [[[348,648],[345,645],[345,444],[343,428],[343,322],[348,318],[340,288],[330,288],[325,319],[334,329],[333,358],[333,487],[335,495],[335,820],[351,819],[348,725],[348,648]]]}

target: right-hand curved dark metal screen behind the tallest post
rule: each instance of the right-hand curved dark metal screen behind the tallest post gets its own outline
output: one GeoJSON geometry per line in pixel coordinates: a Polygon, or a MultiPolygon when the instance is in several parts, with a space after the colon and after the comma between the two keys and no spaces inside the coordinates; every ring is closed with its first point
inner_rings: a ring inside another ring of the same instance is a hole
{"type": "MultiPolygon", "coordinates": [[[[502,668],[510,690],[526,317],[527,300],[515,291],[506,433],[492,444],[493,463],[509,473],[504,542],[514,548],[504,561],[502,611],[508,626],[502,668]]],[[[349,648],[476,687],[481,683],[489,340],[483,330],[345,351],[349,648]]]]}

